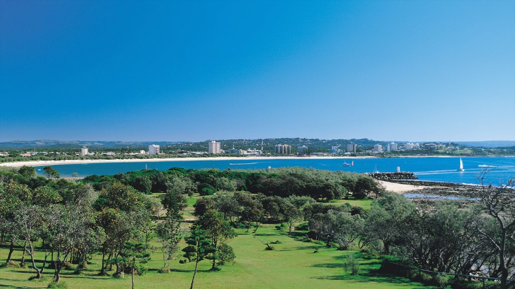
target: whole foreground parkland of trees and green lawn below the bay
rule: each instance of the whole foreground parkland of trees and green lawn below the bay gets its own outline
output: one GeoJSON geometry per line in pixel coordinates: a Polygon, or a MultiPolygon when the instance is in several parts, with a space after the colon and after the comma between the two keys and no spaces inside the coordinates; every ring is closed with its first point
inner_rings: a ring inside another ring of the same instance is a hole
{"type": "Polygon", "coordinates": [[[48,172],[0,171],[8,286],[477,285],[449,277],[461,274],[505,289],[515,277],[513,180],[482,187],[458,209],[415,205],[366,175],[302,168],[172,168],[80,182],[48,172]]]}

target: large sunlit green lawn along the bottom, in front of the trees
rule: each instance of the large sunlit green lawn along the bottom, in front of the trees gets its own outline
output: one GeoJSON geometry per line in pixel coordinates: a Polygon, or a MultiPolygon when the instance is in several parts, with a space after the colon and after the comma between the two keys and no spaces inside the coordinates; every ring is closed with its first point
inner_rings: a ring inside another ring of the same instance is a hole
{"type": "MultiPolygon", "coordinates": [[[[365,259],[357,251],[338,251],[296,241],[276,230],[274,225],[264,225],[256,233],[256,237],[264,242],[282,242],[273,245],[273,251],[265,250],[265,245],[254,238],[253,234],[243,229],[237,232],[238,237],[230,241],[237,257],[236,263],[223,266],[218,272],[208,272],[209,261],[202,261],[199,264],[200,272],[195,278],[196,288],[432,288],[405,278],[376,273],[375,270],[380,267],[379,260],[365,259]],[[314,253],[314,247],[319,247],[319,252],[314,253]],[[344,258],[349,254],[354,254],[361,264],[358,275],[348,274],[342,266],[344,258]]],[[[0,249],[0,262],[5,262],[7,253],[7,248],[0,249]]],[[[42,256],[42,252],[37,253],[37,257],[42,256]]],[[[21,251],[16,250],[14,258],[19,261],[20,257],[21,251]]],[[[135,278],[136,288],[187,288],[190,285],[193,263],[179,264],[178,260],[173,260],[173,272],[159,274],[157,269],[162,267],[159,249],[151,257],[152,260],[146,264],[149,272],[135,278]]],[[[99,256],[96,256],[91,260],[93,264],[89,265],[89,271],[81,275],[64,271],[62,280],[68,288],[130,288],[130,276],[125,279],[96,276],[100,261],[99,256]]],[[[26,262],[29,264],[30,260],[26,262]]],[[[30,266],[27,269],[0,269],[0,287],[43,288],[52,278],[53,270],[46,269],[44,282],[28,281],[33,275],[30,266]]]]}

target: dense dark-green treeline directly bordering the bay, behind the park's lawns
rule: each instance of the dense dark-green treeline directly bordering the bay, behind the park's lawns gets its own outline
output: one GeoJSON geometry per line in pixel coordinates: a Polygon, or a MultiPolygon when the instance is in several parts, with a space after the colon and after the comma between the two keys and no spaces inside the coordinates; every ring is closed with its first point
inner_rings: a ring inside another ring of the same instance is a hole
{"type": "Polygon", "coordinates": [[[144,193],[167,192],[169,189],[187,195],[195,192],[212,195],[216,191],[246,191],[281,197],[310,196],[317,201],[345,198],[351,194],[355,198],[364,198],[382,190],[367,175],[300,167],[251,171],[171,168],[167,171],[142,170],[113,176],[91,175],[82,182],[91,183],[97,190],[113,182],[121,182],[144,193]]]}

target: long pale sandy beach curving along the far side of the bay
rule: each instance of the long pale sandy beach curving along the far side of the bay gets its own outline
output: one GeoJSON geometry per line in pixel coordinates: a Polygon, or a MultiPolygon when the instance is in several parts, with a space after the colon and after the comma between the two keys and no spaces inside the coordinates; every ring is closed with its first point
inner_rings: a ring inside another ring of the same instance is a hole
{"type": "MultiPolygon", "coordinates": [[[[413,158],[413,157],[463,157],[463,156],[448,156],[448,155],[411,155],[399,156],[392,158],[413,158]]],[[[467,156],[470,157],[470,156],[467,156]]],[[[490,157],[490,156],[480,156],[490,157]]],[[[493,156],[492,156],[493,157],[493,156]]],[[[377,156],[248,156],[248,157],[169,157],[169,158],[128,158],[128,159],[66,159],[66,160],[29,160],[29,161],[15,161],[0,163],[0,167],[18,168],[22,166],[39,167],[39,166],[52,166],[52,165],[78,165],[78,164],[101,164],[109,162],[156,162],[156,161],[192,161],[192,160],[265,160],[265,159],[366,159],[366,158],[385,158],[377,156]]]]}

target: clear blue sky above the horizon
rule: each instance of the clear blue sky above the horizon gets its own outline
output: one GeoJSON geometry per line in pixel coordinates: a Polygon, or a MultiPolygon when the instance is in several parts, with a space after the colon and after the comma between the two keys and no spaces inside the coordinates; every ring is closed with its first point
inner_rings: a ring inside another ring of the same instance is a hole
{"type": "Polygon", "coordinates": [[[515,1],[0,1],[0,141],[515,140],[515,1]]]}

